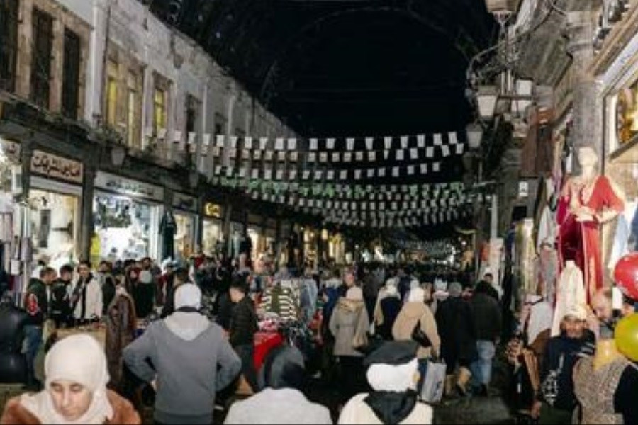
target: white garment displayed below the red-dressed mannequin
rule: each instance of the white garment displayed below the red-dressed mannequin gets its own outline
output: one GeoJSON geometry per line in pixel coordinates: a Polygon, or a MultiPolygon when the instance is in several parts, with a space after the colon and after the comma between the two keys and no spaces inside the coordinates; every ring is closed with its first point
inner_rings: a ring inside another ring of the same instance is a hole
{"type": "Polygon", "coordinates": [[[552,323],[552,336],[558,336],[561,333],[561,320],[564,315],[578,305],[583,308],[587,306],[583,272],[576,266],[574,261],[569,260],[565,264],[556,288],[556,308],[554,310],[554,322],[552,323]]]}

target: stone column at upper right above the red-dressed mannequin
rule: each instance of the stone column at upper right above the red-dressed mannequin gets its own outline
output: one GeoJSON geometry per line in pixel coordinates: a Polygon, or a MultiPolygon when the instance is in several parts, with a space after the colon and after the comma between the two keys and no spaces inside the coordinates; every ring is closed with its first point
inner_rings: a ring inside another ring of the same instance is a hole
{"type": "MultiPolygon", "coordinates": [[[[567,14],[567,52],[572,57],[573,73],[573,128],[571,142],[575,149],[593,147],[602,151],[602,108],[598,100],[598,86],[588,67],[593,60],[594,21],[591,11],[570,11],[567,14]]],[[[576,156],[574,156],[576,158],[576,156]]],[[[573,170],[578,173],[574,159],[573,170]]]]}

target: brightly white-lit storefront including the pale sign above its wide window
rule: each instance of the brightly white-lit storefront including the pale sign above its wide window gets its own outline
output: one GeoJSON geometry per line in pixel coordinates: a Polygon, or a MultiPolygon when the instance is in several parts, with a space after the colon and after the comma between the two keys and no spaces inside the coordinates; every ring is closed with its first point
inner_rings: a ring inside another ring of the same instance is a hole
{"type": "Polygon", "coordinates": [[[94,227],[101,258],[159,259],[159,223],[164,189],[98,171],[95,178],[94,227]]]}

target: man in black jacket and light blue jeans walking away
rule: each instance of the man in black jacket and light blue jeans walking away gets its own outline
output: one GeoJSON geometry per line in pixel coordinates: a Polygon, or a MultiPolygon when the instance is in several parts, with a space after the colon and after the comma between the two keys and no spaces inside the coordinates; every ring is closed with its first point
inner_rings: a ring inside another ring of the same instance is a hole
{"type": "Polygon", "coordinates": [[[490,288],[489,283],[479,282],[470,300],[478,351],[478,360],[472,363],[471,370],[475,385],[483,395],[487,395],[488,385],[492,380],[492,361],[501,326],[500,307],[489,295],[490,288]]]}

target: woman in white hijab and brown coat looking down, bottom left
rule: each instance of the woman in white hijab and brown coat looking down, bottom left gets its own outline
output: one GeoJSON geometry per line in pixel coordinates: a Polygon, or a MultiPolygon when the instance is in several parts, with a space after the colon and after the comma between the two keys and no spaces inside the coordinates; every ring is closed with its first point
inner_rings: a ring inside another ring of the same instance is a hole
{"type": "Polygon", "coordinates": [[[0,424],[141,424],[133,405],[106,389],[106,356],[89,335],[67,336],[45,358],[45,389],[7,402],[0,424]]]}

